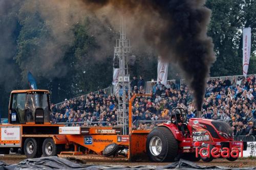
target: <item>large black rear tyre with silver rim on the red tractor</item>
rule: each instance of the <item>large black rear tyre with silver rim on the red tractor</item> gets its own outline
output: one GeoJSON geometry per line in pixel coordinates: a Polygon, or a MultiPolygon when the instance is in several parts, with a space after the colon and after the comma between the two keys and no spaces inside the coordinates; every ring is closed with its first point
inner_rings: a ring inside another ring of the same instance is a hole
{"type": "Polygon", "coordinates": [[[178,153],[178,142],[169,129],[157,127],[147,135],[146,150],[152,161],[173,161],[178,153]]]}

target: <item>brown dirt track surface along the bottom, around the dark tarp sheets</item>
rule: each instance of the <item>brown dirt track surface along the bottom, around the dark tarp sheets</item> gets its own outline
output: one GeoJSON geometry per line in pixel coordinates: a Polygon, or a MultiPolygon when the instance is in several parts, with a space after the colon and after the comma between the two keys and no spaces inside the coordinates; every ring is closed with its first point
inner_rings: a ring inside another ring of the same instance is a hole
{"type": "MultiPolygon", "coordinates": [[[[0,160],[6,162],[7,164],[15,164],[20,161],[26,159],[24,155],[6,155],[0,156],[0,160]]],[[[164,163],[155,163],[155,162],[100,162],[99,160],[95,161],[87,161],[87,164],[94,165],[124,165],[124,166],[138,166],[138,165],[158,165],[163,166],[167,165],[171,162],[164,163]]],[[[256,166],[256,159],[239,159],[234,162],[227,161],[226,159],[215,159],[211,162],[197,162],[199,165],[207,165],[207,166],[227,166],[232,168],[241,168],[241,167],[251,167],[256,166]]]]}

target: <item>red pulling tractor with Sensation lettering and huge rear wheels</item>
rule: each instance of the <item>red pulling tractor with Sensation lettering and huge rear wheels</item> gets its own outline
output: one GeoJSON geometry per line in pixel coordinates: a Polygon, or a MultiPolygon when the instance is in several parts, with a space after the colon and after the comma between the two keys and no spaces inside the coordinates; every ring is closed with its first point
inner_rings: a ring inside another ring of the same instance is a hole
{"type": "Polygon", "coordinates": [[[233,131],[227,123],[204,118],[187,120],[183,108],[173,109],[170,116],[167,123],[147,135],[146,151],[152,161],[234,161],[243,156],[243,142],[233,141],[233,131]]]}

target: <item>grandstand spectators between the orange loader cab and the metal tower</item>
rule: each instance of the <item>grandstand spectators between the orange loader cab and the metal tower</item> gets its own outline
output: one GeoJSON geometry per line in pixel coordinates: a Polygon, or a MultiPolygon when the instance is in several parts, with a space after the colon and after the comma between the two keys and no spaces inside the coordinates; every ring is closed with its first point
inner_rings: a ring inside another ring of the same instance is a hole
{"type": "Polygon", "coordinates": [[[51,105],[51,122],[68,126],[116,126],[117,99],[100,90],[99,94],[81,96],[81,100],[65,99],[59,107],[51,105]]]}

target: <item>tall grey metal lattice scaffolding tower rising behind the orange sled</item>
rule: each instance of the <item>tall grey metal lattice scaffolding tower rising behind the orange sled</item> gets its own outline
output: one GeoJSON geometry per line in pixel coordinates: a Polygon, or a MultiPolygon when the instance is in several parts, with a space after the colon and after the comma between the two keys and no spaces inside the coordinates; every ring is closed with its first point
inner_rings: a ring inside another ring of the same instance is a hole
{"type": "Polygon", "coordinates": [[[117,124],[123,129],[123,134],[128,134],[129,120],[129,100],[130,100],[130,75],[128,72],[128,60],[131,55],[130,39],[126,38],[125,21],[120,17],[120,38],[116,39],[114,47],[114,57],[119,59],[119,77],[118,77],[118,114],[117,124]],[[120,95],[119,95],[120,94],[120,95]]]}

